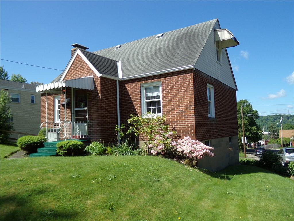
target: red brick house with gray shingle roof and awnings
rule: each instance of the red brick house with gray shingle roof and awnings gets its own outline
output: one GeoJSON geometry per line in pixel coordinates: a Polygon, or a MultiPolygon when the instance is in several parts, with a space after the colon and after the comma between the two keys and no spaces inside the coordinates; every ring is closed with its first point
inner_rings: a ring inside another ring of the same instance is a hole
{"type": "Polygon", "coordinates": [[[215,156],[200,160],[200,167],[235,164],[237,86],[226,48],[237,45],[218,19],[95,52],[73,44],[65,70],[36,89],[42,127],[52,140],[88,137],[107,144],[130,114],[164,114],[181,137],[214,147],[215,156]]]}

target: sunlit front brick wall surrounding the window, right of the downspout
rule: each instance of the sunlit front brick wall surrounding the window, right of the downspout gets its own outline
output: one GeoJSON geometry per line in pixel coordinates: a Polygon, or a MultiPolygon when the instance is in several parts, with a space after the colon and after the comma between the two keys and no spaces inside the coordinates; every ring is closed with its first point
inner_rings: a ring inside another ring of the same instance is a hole
{"type": "Polygon", "coordinates": [[[195,138],[193,70],[125,80],[120,82],[120,117],[127,125],[130,114],[141,115],[140,84],[161,81],[162,110],[166,123],[180,136],[195,138]]]}

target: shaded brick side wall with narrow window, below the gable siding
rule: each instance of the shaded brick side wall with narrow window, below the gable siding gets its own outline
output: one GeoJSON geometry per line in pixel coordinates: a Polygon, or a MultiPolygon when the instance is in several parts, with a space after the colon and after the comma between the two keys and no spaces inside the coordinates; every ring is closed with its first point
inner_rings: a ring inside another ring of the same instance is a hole
{"type": "Polygon", "coordinates": [[[195,70],[195,127],[198,140],[210,140],[238,134],[236,90],[195,70]],[[208,117],[207,83],[213,85],[215,118],[208,117]]]}

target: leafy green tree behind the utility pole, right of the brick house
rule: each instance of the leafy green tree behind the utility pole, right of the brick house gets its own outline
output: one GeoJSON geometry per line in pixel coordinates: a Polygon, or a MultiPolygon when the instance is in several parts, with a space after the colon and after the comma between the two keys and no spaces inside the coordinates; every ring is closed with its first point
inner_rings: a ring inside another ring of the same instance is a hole
{"type": "Polygon", "coordinates": [[[242,133],[242,117],[241,117],[241,105],[243,106],[243,119],[244,119],[244,133],[247,138],[247,142],[258,142],[262,139],[262,131],[260,126],[256,123],[258,119],[258,112],[254,110],[248,100],[239,100],[237,102],[237,113],[238,113],[238,140],[239,148],[243,148],[241,143],[242,133]]]}

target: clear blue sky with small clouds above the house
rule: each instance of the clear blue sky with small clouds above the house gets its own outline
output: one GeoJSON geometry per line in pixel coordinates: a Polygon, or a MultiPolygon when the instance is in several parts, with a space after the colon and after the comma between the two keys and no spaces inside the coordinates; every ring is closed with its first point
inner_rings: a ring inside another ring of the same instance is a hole
{"type": "MultiPolygon", "coordinates": [[[[238,86],[260,115],[293,113],[294,1],[1,1],[1,59],[63,70],[71,44],[96,51],[218,18],[238,86]],[[283,105],[277,105],[283,104],[283,105]]],[[[1,60],[28,82],[60,71],[1,60]]]]}

